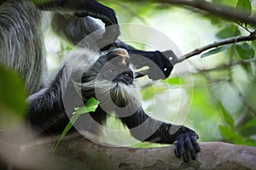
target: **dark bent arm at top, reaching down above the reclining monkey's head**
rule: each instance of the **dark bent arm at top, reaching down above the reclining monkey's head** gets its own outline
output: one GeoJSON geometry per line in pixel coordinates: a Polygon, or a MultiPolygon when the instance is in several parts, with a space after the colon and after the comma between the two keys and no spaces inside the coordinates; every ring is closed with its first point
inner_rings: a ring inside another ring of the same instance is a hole
{"type": "MultiPolygon", "coordinates": [[[[112,8],[108,8],[102,3],[95,0],[45,0],[43,3],[36,3],[38,8],[42,10],[55,11],[57,13],[75,14],[79,17],[91,16],[96,19],[102,20],[105,27],[112,26],[111,29],[106,29],[99,42],[105,41],[113,43],[119,37],[119,25],[115,13],[112,8]]],[[[80,25],[74,24],[78,27],[80,25]]],[[[81,37],[82,38],[82,37],[81,37]]]]}

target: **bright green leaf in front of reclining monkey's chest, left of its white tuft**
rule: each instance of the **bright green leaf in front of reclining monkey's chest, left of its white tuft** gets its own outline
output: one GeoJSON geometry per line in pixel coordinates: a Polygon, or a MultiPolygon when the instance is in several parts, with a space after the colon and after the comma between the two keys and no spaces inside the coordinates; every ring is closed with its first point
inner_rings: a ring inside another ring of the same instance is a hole
{"type": "Polygon", "coordinates": [[[84,113],[94,112],[99,105],[99,101],[95,98],[90,98],[83,107],[76,108],[73,115],[81,115],[84,113]]]}

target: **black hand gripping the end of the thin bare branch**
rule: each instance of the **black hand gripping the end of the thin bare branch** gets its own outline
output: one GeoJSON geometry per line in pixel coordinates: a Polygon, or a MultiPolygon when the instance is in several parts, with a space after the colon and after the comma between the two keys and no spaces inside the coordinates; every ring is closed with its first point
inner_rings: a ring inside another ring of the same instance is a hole
{"type": "Polygon", "coordinates": [[[137,68],[149,67],[146,71],[140,71],[137,77],[148,75],[152,80],[169,77],[173,68],[172,59],[176,57],[172,50],[161,53],[160,51],[131,49],[129,53],[131,55],[131,63],[137,68]]]}

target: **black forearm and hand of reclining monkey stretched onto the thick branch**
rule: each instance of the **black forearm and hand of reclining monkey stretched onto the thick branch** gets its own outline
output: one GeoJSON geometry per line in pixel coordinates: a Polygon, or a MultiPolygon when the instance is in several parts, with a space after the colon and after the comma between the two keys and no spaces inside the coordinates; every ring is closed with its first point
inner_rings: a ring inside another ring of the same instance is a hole
{"type": "Polygon", "coordinates": [[[174,144],[175,155],[183,156],[184,161],[189,161],[189,150],[192,159],[200,147],[197,143],[198,135],[188,127],[172,125],[160,122],[148,116],[143,109],[139,109],[131,116],[120,117],[121,121],[129,127],[131,135],[141,141],[149,141],[161,144],[174,144]]]}

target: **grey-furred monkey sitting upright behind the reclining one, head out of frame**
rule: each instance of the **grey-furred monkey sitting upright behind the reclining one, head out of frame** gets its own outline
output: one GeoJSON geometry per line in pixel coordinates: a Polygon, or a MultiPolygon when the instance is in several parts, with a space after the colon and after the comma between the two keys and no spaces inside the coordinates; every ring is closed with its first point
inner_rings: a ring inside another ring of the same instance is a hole
{"type": "MultiPolygon", "coordinates": [[[[45,77],[46,65],[44,57],[44,17],[43,10],[55,12],[52,22],[53,30],[61,37],[76,45],[92,31],[101,28],[95,20],[100,19],[111,29],[103,31],[96,42],[113,43],[115,48],[126,48],[131,54],[140,54],[156,63],[165,77],[172,71],[172,64],[159,51],[144,52],[116,40],[119,26],[113,9],[95,0],[0,0],[0,65],[17,71],[26,83],[28,94],[38,91],[45,77]],[[65,16],[63,15],[65,14],[65,16]]],[[[131,55],[132,56],[132,55],[131,55]]],[[[131,59],[138,67],[147,65],[131,59]]],[[[148,76],[152,79],[160,77],[154,71],[148,76]]]]}

